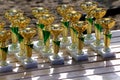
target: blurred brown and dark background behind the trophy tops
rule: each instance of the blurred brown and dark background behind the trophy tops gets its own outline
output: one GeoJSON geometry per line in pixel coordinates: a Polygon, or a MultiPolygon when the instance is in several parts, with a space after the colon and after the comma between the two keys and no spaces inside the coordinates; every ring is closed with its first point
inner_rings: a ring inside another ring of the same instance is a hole
{"type": "Polygon", "coordinates": [[[6,27],[8,27],[10,23],[4,18],[5,11],[12,8],[21,9],[24,11],[25,16],[31,18],[30,26],[35,26],[36,19],[33,17],[31,9],[44,6],[50,9],[51,13],[56,16],[55,22],[59,22],[60,16],[56,12],[56,6],[69,4],[73,5],[75,10],[82,12],[79,5],[83,1],[96,1],[99,3],[99,6],[107,8],[106,17],[113,17],[116,20],[116,25],[113,29],[120,29],[120,0],[0,0],[0,17],[6,21],[6,27]]]}

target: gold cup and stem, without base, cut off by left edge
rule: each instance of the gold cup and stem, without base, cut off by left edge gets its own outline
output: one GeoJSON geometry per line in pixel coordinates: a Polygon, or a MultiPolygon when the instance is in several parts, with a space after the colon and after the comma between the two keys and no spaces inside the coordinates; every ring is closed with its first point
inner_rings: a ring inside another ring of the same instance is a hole
{"type": "Polygon", "coordinates": [[[7,51],[6,41],[10,39],[10,31],[2,30],[0,31],[0,57],[1,57],[1,66],[6,66],[7,62],[7,51]]]}

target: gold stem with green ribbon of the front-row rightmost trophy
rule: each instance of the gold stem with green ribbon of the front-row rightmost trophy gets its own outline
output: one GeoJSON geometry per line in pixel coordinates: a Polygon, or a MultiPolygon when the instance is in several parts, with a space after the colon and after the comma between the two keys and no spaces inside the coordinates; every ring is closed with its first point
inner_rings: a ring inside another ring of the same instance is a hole
{"type": "Polygon", "coordinates": [[[105,29],[105,31],[104,31],[104,44],[105,44],[104,50],[105,51],[109,51],[111,36],[112,35],[110,33],[110,30],[105,29]]]}

